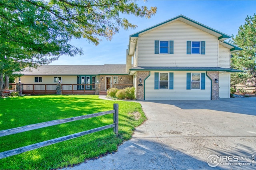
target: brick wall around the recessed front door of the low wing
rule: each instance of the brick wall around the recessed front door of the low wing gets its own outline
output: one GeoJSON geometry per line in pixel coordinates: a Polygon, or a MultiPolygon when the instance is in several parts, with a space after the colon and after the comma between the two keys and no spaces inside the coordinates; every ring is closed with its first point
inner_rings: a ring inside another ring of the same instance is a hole
{"type": "Polygon", "coordinates": [[[100,75],[100,91],[106,91],[105,89],[105,79],[106,77],[112,77],[112,87],[113,87],[113,80],[114,76],[118,76],[118,84],[133,84],[132,76],[129,75],[100,75]],[[101,80],[103,78],[103,80],[101,80]],[[121,80],[122,78],[122,80],[121,80]]]}

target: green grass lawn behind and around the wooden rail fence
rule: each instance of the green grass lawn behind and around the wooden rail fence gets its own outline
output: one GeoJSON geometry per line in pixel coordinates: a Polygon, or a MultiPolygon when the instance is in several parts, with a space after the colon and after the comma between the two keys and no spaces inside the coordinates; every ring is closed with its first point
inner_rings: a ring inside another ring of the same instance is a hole
{"type": "MultiPolygon", "coordinates": [[[[146,119],[139,103],[101,100],[96,95],[0,98],[0,130],[112,110],[114,103],[119,104],[118,135],[111,128],[3,158],[0,159],[0,169],[55,169],[79,164],[116,151],[118,145],[130,139],[134,128],[146,119]],[[132,114],[136,111],[139,116],[132,114]]],[[[0,137],[0,152],[111,123],[113,114],[0,137]]]]}

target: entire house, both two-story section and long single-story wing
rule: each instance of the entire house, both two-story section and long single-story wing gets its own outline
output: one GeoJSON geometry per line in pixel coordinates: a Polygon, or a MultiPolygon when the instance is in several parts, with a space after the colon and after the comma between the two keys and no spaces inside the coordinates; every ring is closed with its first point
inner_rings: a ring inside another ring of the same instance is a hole
{"type": "Polygon", "coordinates": [[[130,35],[126,65],[40,66],[21,72],[21,80],[33,92],[34,84],[42,92],[43,84],[55,89],[63,83],[63,90],[77,94],[106,94],[118,84],[133,84],[138,100],[230,98],[230,73],[240,71],[230,68],[230,55],[242,49],[224,41],[228,38],[180,15],[130,35]]]}

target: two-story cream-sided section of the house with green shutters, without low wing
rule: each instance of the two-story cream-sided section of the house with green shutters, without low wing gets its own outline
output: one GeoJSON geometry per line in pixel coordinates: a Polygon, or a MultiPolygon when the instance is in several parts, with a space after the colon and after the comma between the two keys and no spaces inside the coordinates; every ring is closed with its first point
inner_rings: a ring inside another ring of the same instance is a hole
{"type": "Polygon", "coordinates": [[[229,35],[177,16],[130,35],[126,72],[138,100],[230,98],[229,35]]]}

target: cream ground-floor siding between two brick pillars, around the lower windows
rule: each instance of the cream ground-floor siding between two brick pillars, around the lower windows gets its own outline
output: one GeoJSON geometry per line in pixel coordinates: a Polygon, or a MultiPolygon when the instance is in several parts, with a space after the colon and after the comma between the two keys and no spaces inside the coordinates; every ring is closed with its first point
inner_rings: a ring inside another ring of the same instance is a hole
{"type": "MultiPolygon", "coordinates": [[[[162,72],[162,71],[155,71],[162,72]]],[[[186,73],[191,71],[174,72],[174,89],[154,89],[154,71],[145,83],[145,100],[210,100],[211,82],[206,76],[205,90],[186,90],[186,73]]],[[[164,71],[166,72],[166,71],[164,71]]]]}

